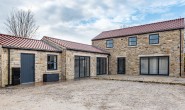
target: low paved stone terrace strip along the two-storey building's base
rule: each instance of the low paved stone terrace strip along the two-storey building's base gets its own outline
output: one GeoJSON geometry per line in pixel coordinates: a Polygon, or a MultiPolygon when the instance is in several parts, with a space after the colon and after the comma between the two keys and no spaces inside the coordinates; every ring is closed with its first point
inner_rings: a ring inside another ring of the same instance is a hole
{"type": "Polygon", "coordinates": [[[118,81],[131,81],[131,82],[143,82],[143,83],[160,83],[160,84],[172,84],[185,86],[185,78],[177,78],[170,76],[131,76],[131,75],[98,75],[92,77],[93,79],[103,80],[118,80],[118,81]]]}

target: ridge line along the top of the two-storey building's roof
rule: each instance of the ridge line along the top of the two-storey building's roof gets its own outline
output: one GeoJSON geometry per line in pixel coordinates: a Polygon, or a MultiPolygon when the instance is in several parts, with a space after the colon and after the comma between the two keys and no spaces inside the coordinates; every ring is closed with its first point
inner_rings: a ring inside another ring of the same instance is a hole
{"type": "Polygon", "coordinates": [[[184,20],[184,18],[177,18],[177,19],[171,19],[171,20],[158,21],[158,22],[147,23],[147,24],[141,24],[141,25],[126,27],[126,28],[121,28],[121,29],[113,29],[113,30],[103,31],[103,32],[101,32],[101,33],[110,32],[110,31],[118,31],[118,30],[123,30],[123,29],[128,29],[128,28],[134,28],[134,27],[141,27],[141,26],[146,26],[146,25],[153,25],[153,24],[158,24],[158,23],[171,22],[171,21],[176,21],[176,20],[184,20]]]}

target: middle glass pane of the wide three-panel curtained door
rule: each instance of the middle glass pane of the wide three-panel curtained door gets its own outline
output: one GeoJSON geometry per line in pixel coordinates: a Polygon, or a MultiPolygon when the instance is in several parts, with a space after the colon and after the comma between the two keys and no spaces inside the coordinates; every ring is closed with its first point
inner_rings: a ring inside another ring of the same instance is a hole
{"type": "Polygon", "coordinates": [[[149,74],[158,74],[158,58],[150,58],[150,72],[149,74]]]}

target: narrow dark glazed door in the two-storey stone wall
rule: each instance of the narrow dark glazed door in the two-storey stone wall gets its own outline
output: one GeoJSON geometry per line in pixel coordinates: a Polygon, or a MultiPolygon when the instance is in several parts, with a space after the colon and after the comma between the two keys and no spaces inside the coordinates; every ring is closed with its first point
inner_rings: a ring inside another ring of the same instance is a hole
{"type": "Polygon", "coordinates": [[[117,59],[117,72],[118,74],[125,74],[125,58],[120,57],[117,59]]]}

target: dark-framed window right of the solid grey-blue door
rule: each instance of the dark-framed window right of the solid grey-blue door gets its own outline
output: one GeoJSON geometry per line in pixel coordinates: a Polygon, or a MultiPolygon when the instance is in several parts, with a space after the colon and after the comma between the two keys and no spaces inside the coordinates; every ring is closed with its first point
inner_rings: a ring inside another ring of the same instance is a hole
{"type": "Polygon", "coordinates": [[[48,55],[48,70],[57,70],[57,55],[48,55]]]}

